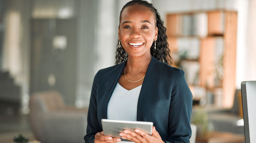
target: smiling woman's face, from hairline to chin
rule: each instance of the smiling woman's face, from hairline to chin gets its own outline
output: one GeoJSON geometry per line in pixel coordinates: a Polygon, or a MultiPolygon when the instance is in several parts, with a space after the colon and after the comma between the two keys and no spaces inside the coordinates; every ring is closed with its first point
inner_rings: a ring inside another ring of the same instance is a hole
{"type": "Polygon", "coordinates": [[[157,40],[157,26],[153,12],[142,6],[133,5],[121,13],[118,38],[129,56],[150,54],[150,48],[157,40]]]}

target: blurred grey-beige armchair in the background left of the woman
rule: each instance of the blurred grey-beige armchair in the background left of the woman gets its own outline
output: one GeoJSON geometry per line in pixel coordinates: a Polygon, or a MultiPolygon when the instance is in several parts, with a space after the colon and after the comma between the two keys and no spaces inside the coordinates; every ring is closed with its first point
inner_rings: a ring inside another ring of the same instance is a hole
{"type": "Polygon", "coordinates": [[[42,143],[84,142],[88,109],[65,106],[58,92],[41,92],[30,97],[30,122],[42,143]]]}

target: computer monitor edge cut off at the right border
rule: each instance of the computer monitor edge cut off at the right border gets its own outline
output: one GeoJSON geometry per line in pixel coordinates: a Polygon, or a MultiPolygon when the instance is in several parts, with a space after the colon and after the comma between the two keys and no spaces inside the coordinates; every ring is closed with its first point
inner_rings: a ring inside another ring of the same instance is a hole
{"type": "Polygon", "coordinates": [[[241,83],[246,143],[256,142],[256,81],[241,83]]]}

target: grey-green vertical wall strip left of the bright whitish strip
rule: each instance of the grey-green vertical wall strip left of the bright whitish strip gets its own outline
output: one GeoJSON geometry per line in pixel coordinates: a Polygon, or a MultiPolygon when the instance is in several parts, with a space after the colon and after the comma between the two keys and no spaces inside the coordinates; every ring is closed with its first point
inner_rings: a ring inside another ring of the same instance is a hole
{"type": "Polygon", "coordinates": [[[77,47],[77,83],[76,101],[77,107],[89,106],[91,88],[95,75],[95,63],[98,60],[97,49],[97,21],[98,1],[81,0],[78,12],[78,47],[77,47]]]}

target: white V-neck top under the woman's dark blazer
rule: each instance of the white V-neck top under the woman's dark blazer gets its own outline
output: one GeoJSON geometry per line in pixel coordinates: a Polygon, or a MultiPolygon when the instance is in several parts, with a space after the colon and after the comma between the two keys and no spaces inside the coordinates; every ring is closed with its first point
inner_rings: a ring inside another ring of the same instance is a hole
{"type": "MultiPolygon", "coordinates": [[[[109,101],[108,119],[137,121],[137,105],[141,87],[142,85],[139,85],[132,90],[126,90],[117,83],[109,101]]],[[[124,142],[130,141],[120,141],[119,143],[124,142]]]]}

